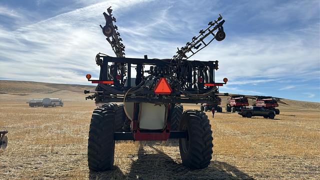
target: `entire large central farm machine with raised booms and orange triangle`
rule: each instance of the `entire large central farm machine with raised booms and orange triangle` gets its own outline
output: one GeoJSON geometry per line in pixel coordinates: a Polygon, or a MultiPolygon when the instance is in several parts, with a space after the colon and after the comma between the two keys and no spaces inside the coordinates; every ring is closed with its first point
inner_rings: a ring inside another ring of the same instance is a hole
{"type": "Polygon", "coordinates": [[[192,169],[207,167],[212,156],[212,131],[208,117],[199,110],[184,110],[183,103],[219,104],[214,71],[218,61],[188,60],[214,39],[225,38],[222,16],[208,23],[200,34],[177,49],[172,58],[124,57],[112,9],[103,12],[102,32],[116,57],[98,53],[99,77],[86,99],[94,99],[88,135],[88,166],[111,169],[115,140],[167,140],[177,138],[182,163],[192,169]]]}

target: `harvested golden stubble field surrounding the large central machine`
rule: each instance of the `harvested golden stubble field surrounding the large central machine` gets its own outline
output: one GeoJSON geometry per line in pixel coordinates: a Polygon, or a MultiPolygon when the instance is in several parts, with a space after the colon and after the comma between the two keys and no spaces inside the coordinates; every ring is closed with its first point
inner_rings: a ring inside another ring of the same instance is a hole
{"type": "Polygon", "coordinates": [[[201,170],[181,164],[175,140],[121,141],[114,170],[97,173],[87,168],[95,106],[84,100],[85,87],[30,83],[0,83],[0,129],[9,131],[0,179],[320,179],[319,103],[283,99],[287,104],[273,120],[226,112],[213,119],[207,112],[214,147],[211,164],[201,170]],[[35,97],[63,98],[64,106],[28,107],[25,101],[35,97]]]}

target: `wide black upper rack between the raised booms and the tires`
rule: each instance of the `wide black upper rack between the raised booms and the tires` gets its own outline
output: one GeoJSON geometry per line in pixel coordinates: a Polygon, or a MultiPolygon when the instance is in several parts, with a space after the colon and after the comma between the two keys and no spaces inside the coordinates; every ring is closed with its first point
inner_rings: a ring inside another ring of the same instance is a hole
{"type": "Polygon", "coordinates": [[[100,66],[99,79],[88,79],[92,83],[98,83],[95,91],[84,90],[84,93],[91,93],[87,99],[95,98],[95,102],[150,102],[150,103],[210,103],[218,104],[220,98],[218,86],[222,86],[226,82],[214,81],[214,70],[218,69],[218,61],[199,61],[199,60],[181,60],[183,65],[178,67],[180,72],[173,72],[176,69],[176,64],[179,63],[173,59],[148,59],[145,58],[126,58],[126,57],[111,57],[97,55],[96,62],[100,66]],[[110,64],[111,63],[111,64],[110,64]],[[131,84],[131,67],[135,65],[136,76],[135,85],[141,82],[144,73],[150,73],[157,77],[175,76],[178,81],[171,81],[170,85],[172,92],[167,95],[155,94],[151,87],[143,88],[138,94],[125,96],[125,92],[134,87],[131,84]],[[152,68],[143,71],[144,65],[150,65],[152,68]],[[126,67],[126,68],[125,68],[126,67]],[[118,69],[118,70],[114,70],[118,69]],[[126,70],[127,69],[127,70],[126,70]],[[161,74],[156,74],[157,72],[161,74]],[[124,79],[124,75],[127,74],[124,79]],[[185,74],[181,80],[180,74],[185,74]],[[114,78],[114,77],[119,77],[114,78]],[[179,83],[184,86],[179,85],[179,83]],[[181,93],[182,91],[182,93],[181,93]],[[187,96],[183,94],[187,91],[191,94],[201,94],[210,91],[211,93],[205,96],[187,96]]]}

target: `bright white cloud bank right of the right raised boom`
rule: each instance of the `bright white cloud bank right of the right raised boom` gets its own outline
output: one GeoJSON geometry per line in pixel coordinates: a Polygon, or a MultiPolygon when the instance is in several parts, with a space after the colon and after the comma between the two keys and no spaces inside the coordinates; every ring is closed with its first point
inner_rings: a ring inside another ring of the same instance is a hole
{"type": "MultiPolygon", "coordinates": [[[[318,28],[319,24],[311,25],[318,28]]],[[[312,29],[313,29],[312,28],[312,29]]],[[[309,29],[309,28],[308,28],[309,29]]],[[[227,29],[225,29],[227,31],[227,29]]],[[[219,60],[216,75],[230,80],[247,78],[312,78],[307,74],[320,65],[319,34],[297,33],[260,34],[235,37],[216,42],[194,56],[201,60],[219,60]]],[[[316,75],[315,73],[313,75],[316,75]]]]}

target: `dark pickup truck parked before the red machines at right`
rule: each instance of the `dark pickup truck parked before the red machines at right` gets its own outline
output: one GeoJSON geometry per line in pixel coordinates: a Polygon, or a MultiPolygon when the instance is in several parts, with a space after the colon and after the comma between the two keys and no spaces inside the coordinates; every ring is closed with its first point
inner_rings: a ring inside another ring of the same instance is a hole
{"type": "Polygon", "coordinates": [[[242,117],[252,117],[252,116],[263,116],[264,118],[273,119],[275,116],[275,111],[264,107],[253,106],[251,108],[242,108],[238,114],[242,117]]]}

